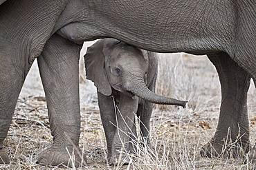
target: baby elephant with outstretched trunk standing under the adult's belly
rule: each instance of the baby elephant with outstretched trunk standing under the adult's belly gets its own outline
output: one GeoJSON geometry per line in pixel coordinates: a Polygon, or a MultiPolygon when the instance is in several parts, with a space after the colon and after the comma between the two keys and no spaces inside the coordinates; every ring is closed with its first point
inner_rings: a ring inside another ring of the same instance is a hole
{"type": "Polygon", "coordinates": [[[128,163],[124,153],[135,151],[135,114],[139,118],[140,134],[149,145],[153,103],[182,107],[187,103],[154,94],[158,69],[158,56],[154,52],[116,39],[102,39],[88,48],[84,63],[86,77],[98,89],[109,164],[117,164],[119,158],[128,163]]]}

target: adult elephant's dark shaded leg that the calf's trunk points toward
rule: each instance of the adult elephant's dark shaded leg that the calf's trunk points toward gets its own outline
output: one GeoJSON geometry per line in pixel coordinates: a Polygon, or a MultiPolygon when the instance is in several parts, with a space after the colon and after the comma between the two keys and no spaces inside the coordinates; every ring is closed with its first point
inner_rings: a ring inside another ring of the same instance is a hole
{"type": "Polygon", "coordinates": [[[250,75],[228,54],[208,55],[215,65],[221,83],[221,108],[214,137],[205,144],[201,156],[242,156],[250,149],[247,92],[250,75]]]}

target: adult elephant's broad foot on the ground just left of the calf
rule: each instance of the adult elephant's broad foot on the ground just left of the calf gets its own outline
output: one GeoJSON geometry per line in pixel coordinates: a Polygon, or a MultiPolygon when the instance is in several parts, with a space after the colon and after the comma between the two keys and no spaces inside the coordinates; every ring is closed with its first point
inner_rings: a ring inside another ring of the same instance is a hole
{"type": "Polygon", "coordinates": [[[51,146],[37,156],[37,164],[57,166],[65,164],[68,167],[82,167],[86,165],[86,156],[82,154],[80,147],[51,146]]]}

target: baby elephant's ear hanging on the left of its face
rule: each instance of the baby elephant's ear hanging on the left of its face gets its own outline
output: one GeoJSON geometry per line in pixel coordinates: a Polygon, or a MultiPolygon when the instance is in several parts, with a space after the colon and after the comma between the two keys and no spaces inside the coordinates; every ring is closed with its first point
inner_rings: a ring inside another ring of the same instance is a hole
{"type": "Polygon", "coordinates": [[[99,40],[88,47],[84,55],[84,65],[86,78],[94,82],[94,85],[98,88],[98,92],[105,96],[110,96],[112,91],[104,70],[103,48],[104,40],[99,40]]]}

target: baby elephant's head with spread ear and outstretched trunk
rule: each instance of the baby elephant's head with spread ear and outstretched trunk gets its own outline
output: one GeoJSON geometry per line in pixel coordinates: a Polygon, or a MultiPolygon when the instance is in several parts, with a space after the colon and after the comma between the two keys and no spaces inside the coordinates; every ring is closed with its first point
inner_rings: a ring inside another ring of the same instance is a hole
{"type": "Polygon", "coordinates": [[[185,107],[187,101],[159,96],[147,88],[145,75],[153,65],[149,57],[156,55],[116,39],[102,39],[89,47],[84,56],[86,78],[105,96],[110,96],[113,88],[151,103],[185,107]]]}

